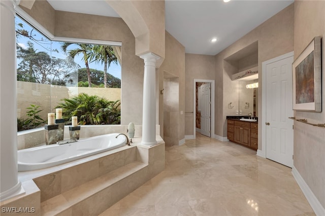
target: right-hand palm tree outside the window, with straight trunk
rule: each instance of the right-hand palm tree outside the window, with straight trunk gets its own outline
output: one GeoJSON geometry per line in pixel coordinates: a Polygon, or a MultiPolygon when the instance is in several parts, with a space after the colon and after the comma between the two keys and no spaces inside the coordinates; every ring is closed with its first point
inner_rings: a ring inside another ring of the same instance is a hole
{"type": "Polygon", "coordinates": [[[112,46],[94,45],[92,53],[89,57],[90,60],[104,63],[104,87],[107,88],[107,71],[111,63],[117,64],[117,57],[115,56],[112,46]]]}

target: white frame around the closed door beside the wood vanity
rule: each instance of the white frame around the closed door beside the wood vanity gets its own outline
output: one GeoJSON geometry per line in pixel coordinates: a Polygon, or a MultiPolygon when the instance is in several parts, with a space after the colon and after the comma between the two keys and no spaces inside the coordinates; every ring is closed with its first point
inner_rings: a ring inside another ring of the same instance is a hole
{"type": "Polygon", "coordinates": [[[256,155],[263,158],[266,158],[266,66],[267,64],[292,56],[294,56],[294,51],[262,62],[262,118],[261,122],[258,121],[258,127],[262,128],[262,149],[258,149],[256,155]]]}

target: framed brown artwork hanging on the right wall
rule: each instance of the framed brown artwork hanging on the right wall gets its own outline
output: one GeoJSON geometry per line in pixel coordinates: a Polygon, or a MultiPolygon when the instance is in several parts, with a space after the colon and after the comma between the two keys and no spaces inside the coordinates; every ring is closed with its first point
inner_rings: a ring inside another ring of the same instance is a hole
{"type": "Polygon", "coordinates": [[[293,63],[293,108],[321,112],[321,37],[315,37],[293,63]]]}

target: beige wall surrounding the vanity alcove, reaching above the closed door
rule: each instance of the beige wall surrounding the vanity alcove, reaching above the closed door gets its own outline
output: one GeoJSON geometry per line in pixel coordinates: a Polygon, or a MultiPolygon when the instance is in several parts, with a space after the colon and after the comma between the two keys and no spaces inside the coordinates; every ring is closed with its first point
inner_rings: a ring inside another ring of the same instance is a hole
{"type": "MultiPolygon", "coordinates": [[[[228,103],[232,98],[229,93],[236,89],[230,78],[230,72],[227,71],[225,58],[242,50],[243,48],[258,41],[258,71],[262,71],[262,62],[279,55],[294,50],[294,5],[291,4],[287,8],[280,11],[261,25],[254,28],[244,37],[236,41],[234,44],[224,49],[215,56],[215,76],[216,76],[216,121],[215,133],[219,136],[226,137],[226,116],[229,113],[228,103]],[[218,80],[221,79],[219,82],[218,80]],[[222,108],[220,108],[222,107],[222,108]],[[222,109],[222,111],[220,110],[222,109]]],[[[259,73],[258,98],[262,97],[262,74],[259,73]]],[[[238,98],[234,98],[234,101],[238,98]]],[[[262,100],[258,100],[258,113],[262,113],[262,100]]],[[[259,122],[262,127],[262,122],[259,122]]],[[[262,130],[258,131],[258,136],[262,136],[262,130]]],[[[261,139],[259,139],[258,147],[261,148],[261,139]]]]}

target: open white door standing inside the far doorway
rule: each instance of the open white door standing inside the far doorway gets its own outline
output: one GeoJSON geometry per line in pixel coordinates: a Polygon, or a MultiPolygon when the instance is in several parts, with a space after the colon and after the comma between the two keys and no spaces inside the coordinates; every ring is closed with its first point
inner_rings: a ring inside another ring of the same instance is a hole
{"type": "Polygon", "coordinates": [[[201,134],[211,137],[211,84],[201,85],[201,134]]]}

